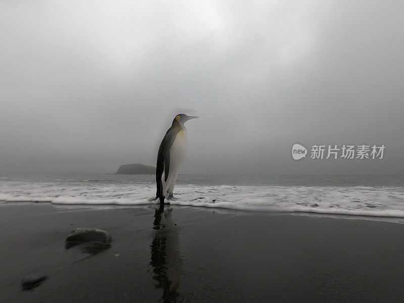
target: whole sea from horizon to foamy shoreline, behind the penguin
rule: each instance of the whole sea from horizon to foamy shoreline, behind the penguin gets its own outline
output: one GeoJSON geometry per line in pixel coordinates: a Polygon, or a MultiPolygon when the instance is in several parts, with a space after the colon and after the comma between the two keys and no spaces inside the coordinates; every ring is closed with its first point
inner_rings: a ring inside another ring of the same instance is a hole
{"type": "MultiPolygon", "coordinates": [[[[155,175],[0,176],[0,203],[145,205],[155,175]]],[[[404,176],[179,175],[171,205],[404,218],[404,176]]]]}

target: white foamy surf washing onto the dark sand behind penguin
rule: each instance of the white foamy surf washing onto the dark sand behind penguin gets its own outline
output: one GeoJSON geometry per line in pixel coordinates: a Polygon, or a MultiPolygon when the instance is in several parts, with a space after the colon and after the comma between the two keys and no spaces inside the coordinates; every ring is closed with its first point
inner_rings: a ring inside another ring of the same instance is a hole
{"type": "MultiPolygon", "coordinates": [[[[158,204],[152,183],[108,180],[0,182],[0,200],[58,205],[158,204]]],[[[178,184],[171,205],[243,211],[307,212],[404,218],[404,187],[233,186],[178,184]]]]}

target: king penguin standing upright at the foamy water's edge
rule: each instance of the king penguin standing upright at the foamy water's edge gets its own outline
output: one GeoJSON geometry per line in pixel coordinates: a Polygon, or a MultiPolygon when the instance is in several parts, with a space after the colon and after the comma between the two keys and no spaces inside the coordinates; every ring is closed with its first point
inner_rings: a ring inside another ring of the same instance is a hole
{"type": "Polygon", "coordinates": [[[186,151],[187,131],[184,123],[194,118],[199,117],[185,114],[175,116],[173,124],[161,141],[156,166],[156,199],[160,198],[160,204],[164,204],[164,199],[173,195],[186,151]]]}

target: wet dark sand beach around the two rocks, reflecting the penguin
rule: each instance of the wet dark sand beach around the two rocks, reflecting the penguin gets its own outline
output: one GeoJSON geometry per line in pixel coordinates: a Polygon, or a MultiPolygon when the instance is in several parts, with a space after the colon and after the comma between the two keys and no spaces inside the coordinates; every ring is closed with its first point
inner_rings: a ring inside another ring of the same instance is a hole
{"type": "Polygon", "coordinates": [[[0,301],[404,298],[404,224],[166,206],[159,225],[155,208],[1,205],[0,301]],[[107,230],[111,247],[65,249],[76,227],[107,230]],[[21,290],[21,279],[38,271],[48,276],[43,284],[21,290]]]}

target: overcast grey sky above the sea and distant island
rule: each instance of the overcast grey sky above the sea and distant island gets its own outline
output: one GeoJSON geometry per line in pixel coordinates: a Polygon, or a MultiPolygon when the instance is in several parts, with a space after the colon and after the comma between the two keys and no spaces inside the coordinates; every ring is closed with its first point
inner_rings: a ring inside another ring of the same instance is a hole
{"type": "Polygon", "coordinates": [[[2,1],[0,172],[404,174],[404,1],[2,1]],[[291,145],[384,144],[294,161],[291,145]]]}

